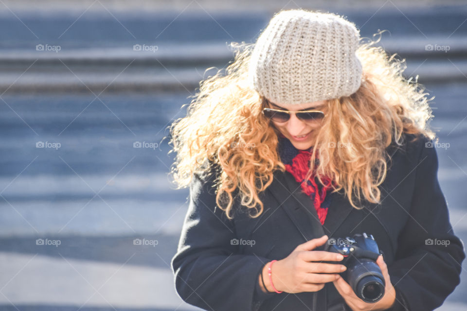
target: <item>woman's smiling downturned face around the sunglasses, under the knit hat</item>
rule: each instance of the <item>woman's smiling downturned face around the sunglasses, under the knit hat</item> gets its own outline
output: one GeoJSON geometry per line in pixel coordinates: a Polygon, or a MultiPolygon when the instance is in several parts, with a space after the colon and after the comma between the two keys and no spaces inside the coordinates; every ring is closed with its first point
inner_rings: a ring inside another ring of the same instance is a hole
{"type": "MultiPolygon", "coordinates": [[[[326,113],[326,101],[313,102],[306,104],[279,104],[267,101],[266,106],[273,109],[282,109],[290,111],[299,110],[320,110],[326,113]]],[[[307,150],[312,147],[316,140],[317,130],[322,124],[322,120],[304,122],[297,118],[295,114],[290,115],[286,122],[271,121],[277,130],[287,137],[293,146],[300,150],[307,150]],[[302,137],[306,135],[305,137],[302,137]]]]}

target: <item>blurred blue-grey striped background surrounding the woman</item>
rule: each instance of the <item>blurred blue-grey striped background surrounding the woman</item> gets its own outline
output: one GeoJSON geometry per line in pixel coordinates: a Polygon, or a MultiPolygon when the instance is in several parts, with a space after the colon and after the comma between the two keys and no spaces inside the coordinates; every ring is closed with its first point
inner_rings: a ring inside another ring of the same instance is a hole
{"type": "MultiPolygon", "coordinates": [[[[228,44],[281,9],[387,30],[380,45],[435,96],[439,181],[466,241],[463,2],[0,0],[0,310],[199,310],[169,266],[189,192],[167,176],[168,126],[228,44]]],[[[438,310],[467,310],[466,267],[438,310]]]]}

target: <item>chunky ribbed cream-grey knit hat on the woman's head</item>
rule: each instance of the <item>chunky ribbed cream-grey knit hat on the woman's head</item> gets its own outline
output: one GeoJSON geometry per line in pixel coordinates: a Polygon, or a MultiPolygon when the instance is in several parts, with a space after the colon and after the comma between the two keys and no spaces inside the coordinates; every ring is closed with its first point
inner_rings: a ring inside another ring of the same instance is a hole
{"type": "Polygon", "coordinates": [[[331,13],[277,13],[251,53],[249,79],[271,102],[303,104],[355,93],[362,67],[359,31],[331,13]]]}

